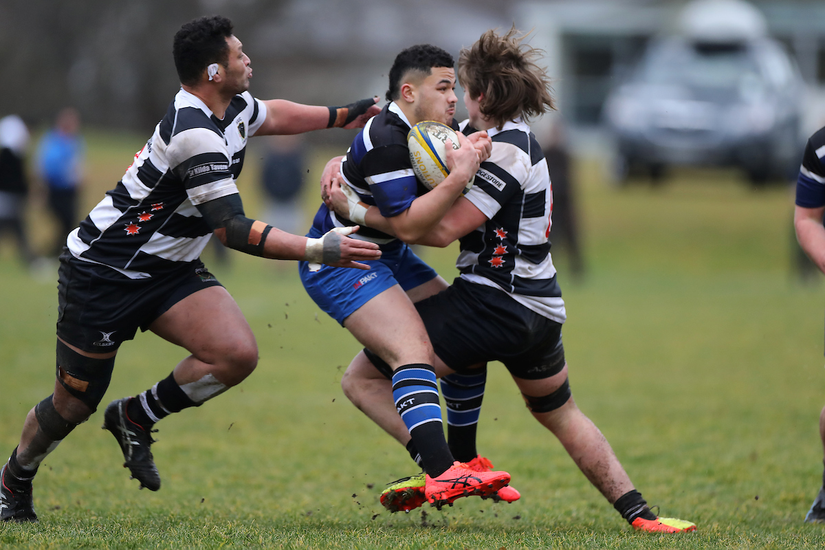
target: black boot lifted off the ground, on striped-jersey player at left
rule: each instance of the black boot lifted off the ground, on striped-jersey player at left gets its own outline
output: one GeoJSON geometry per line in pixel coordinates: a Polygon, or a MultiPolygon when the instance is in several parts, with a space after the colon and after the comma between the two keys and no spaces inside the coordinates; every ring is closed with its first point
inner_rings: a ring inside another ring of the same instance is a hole
{"type": "Polygon", "coordinates": [[[143,426],[134,423],[126,415],[126,404],[131,397],[115,399],[106,407],[103,414],[103,429],[111,431],[115,440],[120,444],[123,451],[124,468],[129,468],[132,477],[140,482],[140,487],[146,487],[149,491],[160,489],[160,474],[154,465],[151,446],[154,443],[149,431],[143,426]]]}

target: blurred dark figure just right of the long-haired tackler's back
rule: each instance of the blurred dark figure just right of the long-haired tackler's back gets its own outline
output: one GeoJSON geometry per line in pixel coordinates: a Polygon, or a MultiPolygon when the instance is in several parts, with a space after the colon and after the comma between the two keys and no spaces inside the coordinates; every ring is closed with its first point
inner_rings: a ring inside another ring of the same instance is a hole
{"type": "Polygon", "coordinates": [[[547,172],[553,189],[553,244],[567,254],[571,278],[581,280],[584,276],[584,261],[576,213],[575,184],[571,176],[567,135],[560,119],[554,121],[541,149],[547,159],[547,172]]]}

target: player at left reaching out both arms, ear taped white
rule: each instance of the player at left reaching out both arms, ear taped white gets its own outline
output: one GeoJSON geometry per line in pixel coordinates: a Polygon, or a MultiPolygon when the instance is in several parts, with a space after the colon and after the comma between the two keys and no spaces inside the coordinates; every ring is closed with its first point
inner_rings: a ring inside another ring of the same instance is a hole
{"type": "Polygon", "coordinates": [[[257,344],[238,305],[200,261],[214,233],[235,250],[365,269],[375,243],[352,228],[299,237],[248,219],[235,181],[252,135],[354,128],[378,112],[375,100],[344,107],[261,101],[247,88],[250,60],[231,21],[186,23],[173,57],[181,79],[163,120],[60,256],[57,379],[26,417],[20,444],[0,471],[0,519],[36,521],[32,480],[46,455],[97,409],[120,344],[138,327],[188,350],[167,378],[106,407],[140,487],[160,488],[150,445],[153,425],[240,383],[257,364],[257,344]]]}

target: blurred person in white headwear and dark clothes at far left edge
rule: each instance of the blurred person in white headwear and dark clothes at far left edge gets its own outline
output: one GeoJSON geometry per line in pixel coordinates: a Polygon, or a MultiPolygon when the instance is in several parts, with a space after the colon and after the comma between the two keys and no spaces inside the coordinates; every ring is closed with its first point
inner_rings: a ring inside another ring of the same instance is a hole
{"type": "Polygon", "coordinates": [[[26,266],[33,256],[26,235],[26,147],[29,130],[17,115],[0,119],[0,235],[12,233],[26,266]]]}

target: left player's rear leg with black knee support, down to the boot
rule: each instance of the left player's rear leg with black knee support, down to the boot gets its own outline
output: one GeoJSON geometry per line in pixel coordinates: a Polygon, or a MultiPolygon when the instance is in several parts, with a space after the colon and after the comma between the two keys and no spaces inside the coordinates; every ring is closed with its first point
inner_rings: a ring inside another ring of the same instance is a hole
{"type": "Polygon", "coordinates": [[[40,463],[97,409],[116,353],[92,354],[58,340],[54,393],[29,411],[20,443],[0,470],[0,520],[37,521],[32,482],[40,463]]]}

